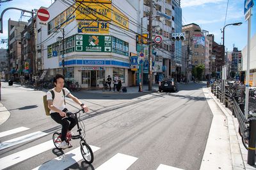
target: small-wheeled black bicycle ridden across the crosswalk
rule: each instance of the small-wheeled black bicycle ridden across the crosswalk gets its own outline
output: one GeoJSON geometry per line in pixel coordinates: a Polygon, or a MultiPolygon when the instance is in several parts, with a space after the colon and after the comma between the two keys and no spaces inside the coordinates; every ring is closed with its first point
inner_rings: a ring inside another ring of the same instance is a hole
{"type": "MultiPolygon", "coordinates": [[[[85,126],[83,124],[81,124],[81,119],[79,118],[80,117],[80,112],[83,111],[84,113],[84,110],[81,109],[79,111],[77,111],[76,113],[71,113],[70,111],[65,111],[66,112],[66,115],[67,117],[72,117],[74,116],[76,118],[76,122],[77,122],[77,132],[79,133],[78,135],[75,135],[75,136],[72,136],[72,135],[67,135],[67,138],[66,138],[66,141],[68,143],[68,146],[71,146],[70,145],[70,141],[71,139],[80,139],[80,149],[81,149],[81,154],[83,156],[83,159],[84,161],[87,163],[87,164],[92,164],[93,162],[93,159],[94,159],[94,156],[93,156],[93,152],[92,152],[92,148],[86,143],[86,140],[84,139],[85,138],[85,126]],[[79,113],[79,116],[77,117],[77,114],[79,113]],[[82,129],[81,129],[81,128],[82,129]],[[82,135],[82,132],[81,131],[84,131],[84,134],[82,135]]],[[[67,118],[66,117],[66,118],[67,118]]],[[[82,122],[83,123],[83,122],[82,122]]],[[[61,133],[60,132],[54,132],[54,134],[52,135],[52,141],[54,143],[54,146],[56,148],[58,148],[59,150],[61,150],[61,148],[59,147],[60,144],[61,144],[61,133]]]]}

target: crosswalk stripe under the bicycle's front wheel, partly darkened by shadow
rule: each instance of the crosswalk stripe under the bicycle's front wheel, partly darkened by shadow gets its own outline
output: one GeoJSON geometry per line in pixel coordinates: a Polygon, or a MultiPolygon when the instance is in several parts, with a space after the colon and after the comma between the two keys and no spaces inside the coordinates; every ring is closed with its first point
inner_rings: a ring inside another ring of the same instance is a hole
{"type": "MultiPolygon", "coordinates": [[[[92,152],[96,152],[100,148],[96,146],[90,145],[92,148],[92,152]]],[[[81,159],[83,159],[80,147],[77,147],[74,150],[71,150],[70,152],[65,153],[64,155],[61,155],[60,157],[56,157],[56,159],[52,159],[49,162],[45,162],[45,164],[42,164],[41,166],[36,167],[33,170],[36,169],[44,169],[44,170],[62,170],[66,169],[69,166],[72,166],[73,164],[76,164],[76,162],[79,162],[81,159]]]]}

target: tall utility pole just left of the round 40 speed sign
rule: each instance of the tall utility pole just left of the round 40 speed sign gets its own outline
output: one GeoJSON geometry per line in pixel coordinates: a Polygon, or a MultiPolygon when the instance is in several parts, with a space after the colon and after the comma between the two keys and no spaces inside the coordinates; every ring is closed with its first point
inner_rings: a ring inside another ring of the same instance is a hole
{"type": "Polygon", "coordinates": [[[153,15],[153,0],[149,1],[150,6],[150,12],[149,12],[149,30],[148,30],[148,91],[152,90],[152,69],[151,69],[151,54],[152,54],[152,46],[151,40],[152,40],[152,15],[153,15]]]}

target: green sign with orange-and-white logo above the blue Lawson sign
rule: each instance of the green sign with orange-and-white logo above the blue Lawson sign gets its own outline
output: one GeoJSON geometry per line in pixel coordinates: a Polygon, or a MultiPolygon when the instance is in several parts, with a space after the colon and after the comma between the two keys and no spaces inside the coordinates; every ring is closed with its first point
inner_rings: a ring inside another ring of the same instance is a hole
{"type": "Polygon", "coordinates": [[[76,35],[76,52],[111,52],[111,36],[76,35]]]}

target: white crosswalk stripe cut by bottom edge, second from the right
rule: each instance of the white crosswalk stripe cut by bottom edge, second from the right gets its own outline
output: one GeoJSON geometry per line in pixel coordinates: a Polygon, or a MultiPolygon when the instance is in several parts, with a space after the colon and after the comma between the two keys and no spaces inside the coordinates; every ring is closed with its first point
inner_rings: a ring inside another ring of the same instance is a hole
{"type": "Polygon", "coordinates": [[[125,170],[129,166],[131,166],[137,159],[138,158],[136,157],[125,155],[122,153],[117,153],[115,156],[104,162],[104,164],[102,164],[95,170],[125,170]]]}

